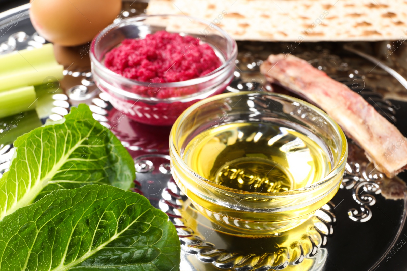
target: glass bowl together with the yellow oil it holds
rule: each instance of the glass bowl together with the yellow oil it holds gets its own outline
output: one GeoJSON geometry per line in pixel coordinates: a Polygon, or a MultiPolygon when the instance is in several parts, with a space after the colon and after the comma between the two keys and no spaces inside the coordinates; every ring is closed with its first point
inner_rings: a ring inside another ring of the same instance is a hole
{"type": "Polygon", "coordinates": [[[348,144],[327,113],[287,95],[226,93],[189,107],[170,135],[171,171],[221,232],[259,236],[310,219],[337,192],[348,144]]]}

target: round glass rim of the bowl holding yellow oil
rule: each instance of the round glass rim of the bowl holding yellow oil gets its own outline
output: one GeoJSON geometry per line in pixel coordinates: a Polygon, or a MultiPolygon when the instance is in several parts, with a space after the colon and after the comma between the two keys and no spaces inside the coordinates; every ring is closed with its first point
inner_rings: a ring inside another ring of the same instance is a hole
{"type": "MultiPolygon", "coordinates": [[[[325,184],[329,183],[337,174],[340,173],[340,171],[342,170],[342,168],[345,167],[345,163],[348,157],[348,141],[346,139],[346,136],[343,132],[343,130],[339,127],[339,125],[336,123],[336,121],[334,121],[331,117],[329,117],[329,115],[327,115],[326,112],[324,112],[323,110],[317,108],[316,106],[310,104],[309,102],[305,102],[304,100],[289,96],[289,95],[285,95],[285,94],[280,94],[280,93],[271,93],[271,92],[265,92],[265,91],[260,91],[257,93],[253,93],[250,91],[241,91],[241,92],[235,92],[235,93],[223,93],[223,94],[219,94],[219,95],[215,95],[209,98],[206,98],[204,100],[201,100],[199,102],[196,102],[195,104],[193,104],[192,106],[190,106],[189,108],[187,108],[182,115],[180,115],[177,120],[175,121],[173,127],[171,128],[171,133],[170,133],[170,138],[169,138],[169,147],[170,147],[170,151],[172,152],[173,155],[170,155],[171,157],[175,158],[175,162],[171,161],[171,163],[177,163],[178,165],[180,165],[184,170],[188,171],[188,173],[192,173],[193,176],[196,176],[197,179],[199,180],[199,184],[204,185],[204,186],[210,186],[211,189],[215,189],[217,192],[219,193],[225,193],[228,192],[231,195],[235,195],[238,197],[256,197],[256,198],[281,198],[281,197],[292,197],[294,195],[300,195],[300,194],[304,194],[304,193],[308,193],[309,191],[313,191],[316,190],[322,186],[324,186],[325,184]],[[339,152],[339,159],[338,162],[335,163],[335,165],[333,166],[333,168],[329,171],[328,174],[326,174],[323,178],[321,178],[318,182],[315,182],[313,184],[311,184],[310,186],[305,186],[299,189],[293,189],[293,190],[289,190],[289,191],[284,191],[284,192],[262,192],[262,193],[258,193],[258,192],[248,192],[248,191],[242,191],[242,190],[238,190],[238,189],[232,189],[229,188],[227,186],[223,186],[220,184],[217,184],[215,182],[212,182],[202,176],[200,176],[198,173],[196,173],[195,171],[193,171],[193,169],[191,169],[185,162],[184,160],[181,158],[180,154],[179,154],[179,150],[178,148],[175,146],[175,142],[174,142],[174,138],[176,138],[176,130],[178,130],[180,124],[182,123],[182,121],[185,121],[186,116],[189,115],[190,113],[192,113],[195,109],[199,108],[199,106],[204,105],[208,102],[212,102],[214,100],[220,100],[220,99],[224,99],[224,98],[228,98],[228,97],[232,97],[232,96],[238,96],[238,95],[248,95],[248,96],[256,96],[256,95],[269,95],[269,96],[274,96],[274,97],[278,97],[278,98],[283,98],[284,100],[288,100],[290,102],[297,102],[300,105],[303,106],[307,106],[309,108],[311,108],[315,113],[317,113],[318,115],[323,116],[326,121],[328,122],[328,124],[333,127],[333,129],[335,130],[339,142],[341,144],[341,150],[339,152]]],[[[342,178],[340,178],[340,180],[342,180],[342,178]]],[[[335,185],[336,186],[336,185],[335,185]]],[[[332,189],[335,188],[335,186],[333,186],[332,189]]],[[[325,192],[329,192],[329,191],[324,191],[325,192]]]]}

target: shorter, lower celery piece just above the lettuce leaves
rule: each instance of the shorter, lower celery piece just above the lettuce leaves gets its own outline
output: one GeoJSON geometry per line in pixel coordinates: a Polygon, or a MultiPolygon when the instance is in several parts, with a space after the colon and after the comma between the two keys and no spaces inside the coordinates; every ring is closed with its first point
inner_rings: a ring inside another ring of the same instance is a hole
{"type": "Polygon", "coordinates": [[[0,118],[35,109],[33,86],[0,92],[0,118]]]}

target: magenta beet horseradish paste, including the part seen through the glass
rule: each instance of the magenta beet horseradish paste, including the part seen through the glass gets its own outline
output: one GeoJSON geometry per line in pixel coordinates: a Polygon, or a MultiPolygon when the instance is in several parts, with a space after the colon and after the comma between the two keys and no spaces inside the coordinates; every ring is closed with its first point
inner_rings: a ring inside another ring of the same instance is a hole
{"type": "MultiPolygon", "coordinates": [[[[200,40],[189,35],[182,36],[163,30],[148,34],[144,39],[125,39],[119,46],[115,46],[105,54],[104,65],[113,72],[140,82],[158,83],[154,84],[155,87],[140,85],[131,87],[132,93],[164,101],[151,105],[140,99],[133,106],[136,110],[134,114],[127,112],[130,113],[130,115],[127,114],[129,117],[146,124],[172,125],[176,117],[198,101],[177,102],[169,98],[197,93],[202,90],[199,85],[156,86],[199,78],[222,65],[213,48],[200,40]],[[146,109],[149,112],[144,112],[146,109]]],[[[219,94],[223,90],[224,88],[212,95],[219,94]]],[[[120,110],[120,101],[112,103],[120,110]]]]}

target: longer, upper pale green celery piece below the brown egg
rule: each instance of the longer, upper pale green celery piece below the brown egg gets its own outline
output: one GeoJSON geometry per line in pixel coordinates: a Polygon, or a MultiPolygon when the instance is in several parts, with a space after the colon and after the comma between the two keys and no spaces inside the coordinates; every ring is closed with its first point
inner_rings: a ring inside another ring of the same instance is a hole
{"type": "Polygon", "coordinates": [[[51,43],[0,56],[0,92],[63,78],[51,43]]]}

